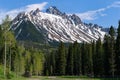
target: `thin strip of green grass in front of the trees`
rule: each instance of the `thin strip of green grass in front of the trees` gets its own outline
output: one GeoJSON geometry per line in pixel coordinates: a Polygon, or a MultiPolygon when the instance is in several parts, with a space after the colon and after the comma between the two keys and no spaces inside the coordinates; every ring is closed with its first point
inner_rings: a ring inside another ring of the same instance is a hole
{"type": "Polygon", "coordinates": [[[120,78],[86,78],[79,76],[34,76],[31,78],[18,77],[7,80],[120,80],[120,78]]]}

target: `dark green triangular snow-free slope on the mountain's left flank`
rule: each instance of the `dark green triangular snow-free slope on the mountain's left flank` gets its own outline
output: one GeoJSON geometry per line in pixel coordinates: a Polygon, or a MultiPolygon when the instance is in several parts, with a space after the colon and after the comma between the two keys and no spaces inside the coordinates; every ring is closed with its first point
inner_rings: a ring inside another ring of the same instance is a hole
{"type": "Polygon", "coordinates": [[[44,36],[38,30],[36,30],[35,25],[32,24],[30,21],[22,21],[19,27],[15,30],[16,36],[20,29],[22,29],[22,31],[19,37],[17,37],[17,40],[31,42],[44,42],[45,40],[44,36]]]}

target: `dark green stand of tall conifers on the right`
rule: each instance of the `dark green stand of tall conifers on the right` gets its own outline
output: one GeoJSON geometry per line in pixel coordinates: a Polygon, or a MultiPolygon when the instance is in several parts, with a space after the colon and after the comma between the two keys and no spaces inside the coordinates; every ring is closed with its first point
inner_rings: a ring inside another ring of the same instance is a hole
{"type": "Polygon", "coordinates": [[[120,21],[117,36],[113,26],[104,40],[91,43],[60,42],[57,50],[46,55],[44,75],[86,75],[120,77],[120,21]]]}

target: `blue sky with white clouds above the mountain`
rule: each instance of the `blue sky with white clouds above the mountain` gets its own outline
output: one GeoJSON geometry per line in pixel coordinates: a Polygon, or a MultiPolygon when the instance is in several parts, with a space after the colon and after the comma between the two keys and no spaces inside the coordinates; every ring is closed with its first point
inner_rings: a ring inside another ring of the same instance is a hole
{"type": "Polygon", "coordinates": [[[120,0],[0,0],[0,20],[6,14],[14,18],[21,11],[37,7],[45,10],[56,6],[67,14],[77,14],[83,22],[104,27],[117,27],[120,20],[120,0]]]}

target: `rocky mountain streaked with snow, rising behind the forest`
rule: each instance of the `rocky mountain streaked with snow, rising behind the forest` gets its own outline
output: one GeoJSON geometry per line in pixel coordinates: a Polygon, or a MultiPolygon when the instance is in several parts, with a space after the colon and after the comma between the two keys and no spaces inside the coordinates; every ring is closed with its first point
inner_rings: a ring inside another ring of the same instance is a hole
{"type": "Polygon", "coordinates": [[[75,15],[67,15],[55,6],[46,12],[39,8],[21,12],[12,21],[11,30],[17,40],[33,42],[91,42],[103,39],[105,32],[97,24],[86,24],[75,15]]]}

